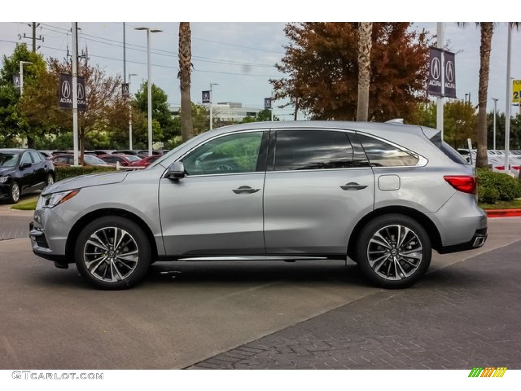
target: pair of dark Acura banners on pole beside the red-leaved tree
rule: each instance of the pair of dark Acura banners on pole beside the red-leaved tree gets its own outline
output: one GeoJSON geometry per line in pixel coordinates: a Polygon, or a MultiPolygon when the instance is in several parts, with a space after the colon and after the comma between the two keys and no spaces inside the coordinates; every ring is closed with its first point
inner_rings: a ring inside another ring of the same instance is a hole
{"type": "Polygon", "coordinates": [[[437,47],[430,48],[427,93],[429,95],[456,97],[454,53],[437,47]]]}

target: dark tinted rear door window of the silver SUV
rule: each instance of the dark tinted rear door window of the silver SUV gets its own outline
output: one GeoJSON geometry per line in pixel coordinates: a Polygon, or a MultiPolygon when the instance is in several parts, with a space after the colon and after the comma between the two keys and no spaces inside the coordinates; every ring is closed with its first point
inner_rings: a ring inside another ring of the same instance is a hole
{"type": "Polygon", "coordinates": [[[353,167],[353,148],[344,132],[279,130],[275,170],[309,170],[353,167]]]}

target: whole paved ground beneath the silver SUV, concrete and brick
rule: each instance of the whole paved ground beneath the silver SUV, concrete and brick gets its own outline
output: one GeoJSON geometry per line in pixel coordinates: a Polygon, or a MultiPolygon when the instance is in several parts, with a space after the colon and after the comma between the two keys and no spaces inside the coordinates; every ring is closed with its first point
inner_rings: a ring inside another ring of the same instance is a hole
{"type": "MultiPolygon", "coordinates": [[[[0,238],[31,220],[6,208],[0,238]]],[[[521,218],[489,227],[405,290],[322,261],[159,262],[137,288],[98,291],[26,237],[0,240],[0,369],[521,369],[521,218]]]]}

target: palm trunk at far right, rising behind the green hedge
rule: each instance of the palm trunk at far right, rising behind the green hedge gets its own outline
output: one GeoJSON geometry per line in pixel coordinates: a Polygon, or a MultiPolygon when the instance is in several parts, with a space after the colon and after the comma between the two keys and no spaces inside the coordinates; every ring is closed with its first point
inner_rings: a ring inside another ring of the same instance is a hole
{"type": "Polygon", "coordinates": [[[476,167],[488,168],[487,154],[487,93],[489,81],[490,49],[492,45],[492,22],[480,22],[481,47],[479,49],[478,90],[478,151],[476,167]]]}

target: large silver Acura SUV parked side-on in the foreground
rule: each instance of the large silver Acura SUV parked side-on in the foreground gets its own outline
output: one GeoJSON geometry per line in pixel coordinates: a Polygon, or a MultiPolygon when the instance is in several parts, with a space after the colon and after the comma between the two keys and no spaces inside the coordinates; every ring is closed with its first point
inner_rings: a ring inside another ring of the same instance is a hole
{"type": "Polygon", "coordinates": [[[346,259],[402,288],[432,249],[481,247],[474,168],[435,129],[296,121],[224,127],[142,171],[47,187],[30,237],[57,267],[127,288],[152,262],[346,259]]]}

